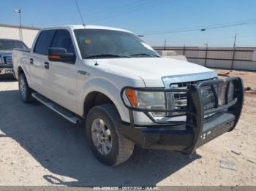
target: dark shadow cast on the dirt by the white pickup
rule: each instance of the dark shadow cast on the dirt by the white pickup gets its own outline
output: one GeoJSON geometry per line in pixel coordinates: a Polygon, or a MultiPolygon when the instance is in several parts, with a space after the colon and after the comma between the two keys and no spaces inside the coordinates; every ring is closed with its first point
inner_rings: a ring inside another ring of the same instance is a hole
{"type": "Polygon", "coordinates": [[[187,157],[176,152],[135,147],[126,163],[108,167],[99,163],[90,151],[83,125],[70,124],[38,102],[23,104],[18,90],[0,92],[0,106],[0,130],[50,171],[43,178],[51,184],[153,186],[200,158],[196,154],[187,157]]]}

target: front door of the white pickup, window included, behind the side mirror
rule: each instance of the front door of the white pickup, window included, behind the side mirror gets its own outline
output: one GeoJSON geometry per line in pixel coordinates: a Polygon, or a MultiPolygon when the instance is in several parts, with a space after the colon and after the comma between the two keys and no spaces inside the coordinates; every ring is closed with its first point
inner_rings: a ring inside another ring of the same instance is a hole
{"type": "MultiPolygon", "coordinates": [[[[75,53],[72,37],[67,29],[56,31],[53,42],[50,47],[60,47],[69,53],[75,53]]],[[[49,62],[48,69],[48,86],[52,94],[51,99],[76,112],[77,107],[77,63],[49,62]]]]}

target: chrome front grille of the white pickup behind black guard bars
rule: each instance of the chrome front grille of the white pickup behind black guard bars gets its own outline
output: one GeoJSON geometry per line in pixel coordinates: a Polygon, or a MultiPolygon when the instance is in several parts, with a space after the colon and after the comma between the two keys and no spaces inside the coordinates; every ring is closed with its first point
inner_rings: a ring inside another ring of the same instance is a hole
{"type": "MultiPolygon", "coordinates": [[[[180,83],[173,83],[170,84],[170,88],[175,89],[187,89],[190,85],[196,85],[199,82],[203,82],[210,79],[205,80],[198,80],[198,81],[192,81],[192,82],[180,82],[180,83]]],[[[214,107],[214,93],[211,90],[211,87],[206,86],[203,87],[203,105],[205,109],[211,109],[214,107]]],[[[178,93],[170,93],[170,95],[167,96],[169,99],[168,108],[169,109],[187,109],[187,93],[186,92],[178,92],[178,93]]],[[[181,113],[177,113],[181,114],[181,113]]],[[[170,113],[169,116],[176,115],[176,113],[170,113]]]]}

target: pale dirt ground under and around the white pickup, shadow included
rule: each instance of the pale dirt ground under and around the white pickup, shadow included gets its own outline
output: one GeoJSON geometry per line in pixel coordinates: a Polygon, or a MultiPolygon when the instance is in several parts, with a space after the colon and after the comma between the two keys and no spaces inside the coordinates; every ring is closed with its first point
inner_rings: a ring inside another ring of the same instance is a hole
{"type": "MultiPolygon", "coordinates": [[[[256,74],[249,76],[245,87],[256,87],[256,74]]],[[[18,82],[1,79],[0,185],[256,185],[255,116],[256,94],[246,93],[236,129],[197,154],[136,147],[130,160],[113,168],[95,159],[83,125],[72,125],[38,102],[23,104],[18,82]],[[222,168],[220,160],[237,170],[222,168]]]]}

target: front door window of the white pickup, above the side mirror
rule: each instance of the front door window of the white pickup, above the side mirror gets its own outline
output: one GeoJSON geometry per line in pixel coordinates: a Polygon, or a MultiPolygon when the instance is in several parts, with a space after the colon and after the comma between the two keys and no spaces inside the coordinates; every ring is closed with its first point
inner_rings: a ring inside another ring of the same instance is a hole
{"type": "Polygon", "coordinates": [[[56,32],[56,35],[54,36],[53,44],[51,45],[51,47],[65,48],[67,52],[75,53],[71,36],[69,34],[69,31],[67,30],[58,30],[56,32]]]}

